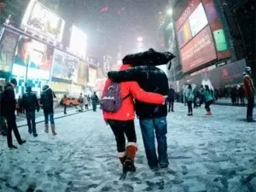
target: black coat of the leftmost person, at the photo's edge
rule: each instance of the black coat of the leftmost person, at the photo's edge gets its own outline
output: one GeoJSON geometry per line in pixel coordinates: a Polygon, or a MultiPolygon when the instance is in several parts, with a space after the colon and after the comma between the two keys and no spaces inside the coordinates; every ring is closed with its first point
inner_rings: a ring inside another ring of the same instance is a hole
{"type": "Polygon", "coordinates": [[[15,90],[12,84],[7,83],[4,86],[1,98],[0,116],[12,116],[15,114],[17,101],[15,99],[15,90]]]}

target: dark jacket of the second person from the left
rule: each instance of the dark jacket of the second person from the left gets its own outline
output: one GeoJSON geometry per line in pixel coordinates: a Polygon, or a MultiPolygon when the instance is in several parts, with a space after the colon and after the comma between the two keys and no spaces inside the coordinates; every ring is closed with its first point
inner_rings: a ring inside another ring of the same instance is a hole
{"type": "Polygon", "coordinates": [[[26,92],[21,97],[20,108],[24,108],[26,111],[39,110],[38,97],[32,92],[26,92]]]}

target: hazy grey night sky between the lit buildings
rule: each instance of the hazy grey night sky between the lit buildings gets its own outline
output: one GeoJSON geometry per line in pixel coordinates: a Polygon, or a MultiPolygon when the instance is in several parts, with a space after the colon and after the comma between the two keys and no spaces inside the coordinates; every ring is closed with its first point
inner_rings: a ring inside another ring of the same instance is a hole
{"type": "Polygon", "coordinates": [[[69,19],[88,34],[88,51],[115,56],[119,45],[122,55],[136,51],[138,36],[145,47],[155,48],[157,16],[167,0],[62,0],[61,9],[63,4],[69,19]]]}

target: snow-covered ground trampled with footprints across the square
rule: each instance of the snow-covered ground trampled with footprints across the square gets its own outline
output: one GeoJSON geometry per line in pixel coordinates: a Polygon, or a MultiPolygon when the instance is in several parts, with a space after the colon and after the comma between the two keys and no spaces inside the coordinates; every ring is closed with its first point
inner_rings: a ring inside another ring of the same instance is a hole
{"type": "Polygon", "coordinates": [[[37,138],[21,127],[27,143],[18,149],[9,150],[0,137],[0,191],[255,191],[256,124],[243,121],[245,112],[212,106],[211,117],[203,108],[187,117],[187,108],[176,104],[167,117],[170,166],[160,172],[148,169],[136,122],[137,172],[125,181],[119,180],[113,133],[101,112],[56,119],[57,137],[44,134],[44,124],[38,124],[37,138]]]}

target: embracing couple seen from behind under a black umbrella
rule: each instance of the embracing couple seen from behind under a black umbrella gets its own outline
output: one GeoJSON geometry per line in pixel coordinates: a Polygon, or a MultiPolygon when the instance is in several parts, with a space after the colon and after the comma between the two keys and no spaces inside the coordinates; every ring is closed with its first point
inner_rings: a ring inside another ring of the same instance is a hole
{"type": "Polygon", "coordinates": [[[135,172],[137,136],[134,125],[135,111],[140,121],[148,166],[155,170],[169,165],[167,156],[166,74],[157,65],[174,58],[169,52],[148,49],[143,53],[126,55],[119,72],[109,72],[101,108],[104,120],[110,125],[117,144],[119,160],[124,171],[135,172]],[[136,100],[135,104],[133,99],[136,100]],[[154,134],[158,142],[156,154],[154,134]],[[125,146],[125,137],[128,140],[125,146]]]}

